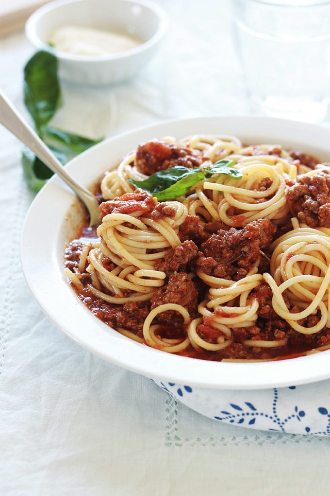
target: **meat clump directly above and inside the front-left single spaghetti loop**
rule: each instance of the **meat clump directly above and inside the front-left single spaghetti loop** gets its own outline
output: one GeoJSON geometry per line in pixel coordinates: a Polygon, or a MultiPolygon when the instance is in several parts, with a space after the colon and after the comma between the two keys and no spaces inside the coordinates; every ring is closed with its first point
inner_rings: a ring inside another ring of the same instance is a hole
{"type": "MultiPolygon", "coordinates": [[[[151,310],[166,303],[182,305],[194,317],[197,312],[198,293],[186,272],[174,272],[165,287],[159,288],[151,297],[151,310]]],[[[165,324],[182,326],[183,317],[175,311],[165,311],[157,319],[165,324]]]]}

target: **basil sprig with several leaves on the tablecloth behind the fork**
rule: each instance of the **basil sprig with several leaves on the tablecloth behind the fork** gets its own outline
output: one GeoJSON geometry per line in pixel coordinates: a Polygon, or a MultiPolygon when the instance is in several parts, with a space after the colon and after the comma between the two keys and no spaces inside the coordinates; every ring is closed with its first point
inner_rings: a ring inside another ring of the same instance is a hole
{"type": "MultiPolygon", "coordinates": [[[[94,140],[63,131],[47,124],[61,106],[61,89],[57,76],[57,59],[49,52],[37,52],[24,67],[24,103],[36,131],[59,161],[68,160],[87,150],[94,140]]],[[[53,173],[28,148],[22,153],[24,177],[31,189],[38,191],[53,173]]]]}

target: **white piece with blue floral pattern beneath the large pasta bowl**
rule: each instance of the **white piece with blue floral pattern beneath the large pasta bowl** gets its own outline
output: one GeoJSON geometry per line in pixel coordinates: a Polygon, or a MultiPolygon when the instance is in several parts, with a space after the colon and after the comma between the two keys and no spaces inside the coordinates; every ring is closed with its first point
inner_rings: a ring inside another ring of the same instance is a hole
{"type": "Polygon", "coordinates": [[[330,436],[328,380],[243,391],[154,382],[192,410],[216,421],[264,431],[330,436]]]}

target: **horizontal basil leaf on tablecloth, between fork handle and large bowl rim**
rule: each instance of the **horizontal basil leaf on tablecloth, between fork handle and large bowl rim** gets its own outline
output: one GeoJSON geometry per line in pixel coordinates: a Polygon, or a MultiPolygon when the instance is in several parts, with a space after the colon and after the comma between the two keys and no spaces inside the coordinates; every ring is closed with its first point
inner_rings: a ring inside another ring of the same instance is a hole
{"type": "Polygon", "coordinates": [[[42,138],[48,144],[48,146],[60,145],[62,148],[67,148],[70,150],[70,152],[75,153],[84,152],[103,139],[90,139],[84,136],[80,136],[79,134],[62,131],[62,129],[57,129],[56,127],[50,126],[46,126],[43,128],[42,138]]]}

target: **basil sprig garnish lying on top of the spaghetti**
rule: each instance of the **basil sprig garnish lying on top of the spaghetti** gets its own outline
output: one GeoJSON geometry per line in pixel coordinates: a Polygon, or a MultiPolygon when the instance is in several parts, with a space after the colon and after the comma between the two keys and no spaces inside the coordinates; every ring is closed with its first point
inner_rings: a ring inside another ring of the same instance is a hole
{"type": "Polygon", "coordinates": [[[134,179],[129,179],[129,181],[137,188],[151,193],[158,201],[173,200],[185,195],[198,181],[214,174],[225,174],[231,178],[240,179],[242,172],[230,167],[232,165],[235,165],[232,160],[219,160],[204,169],[175,166],[172,169],[155,172],[143,181],[134,179]]]}

